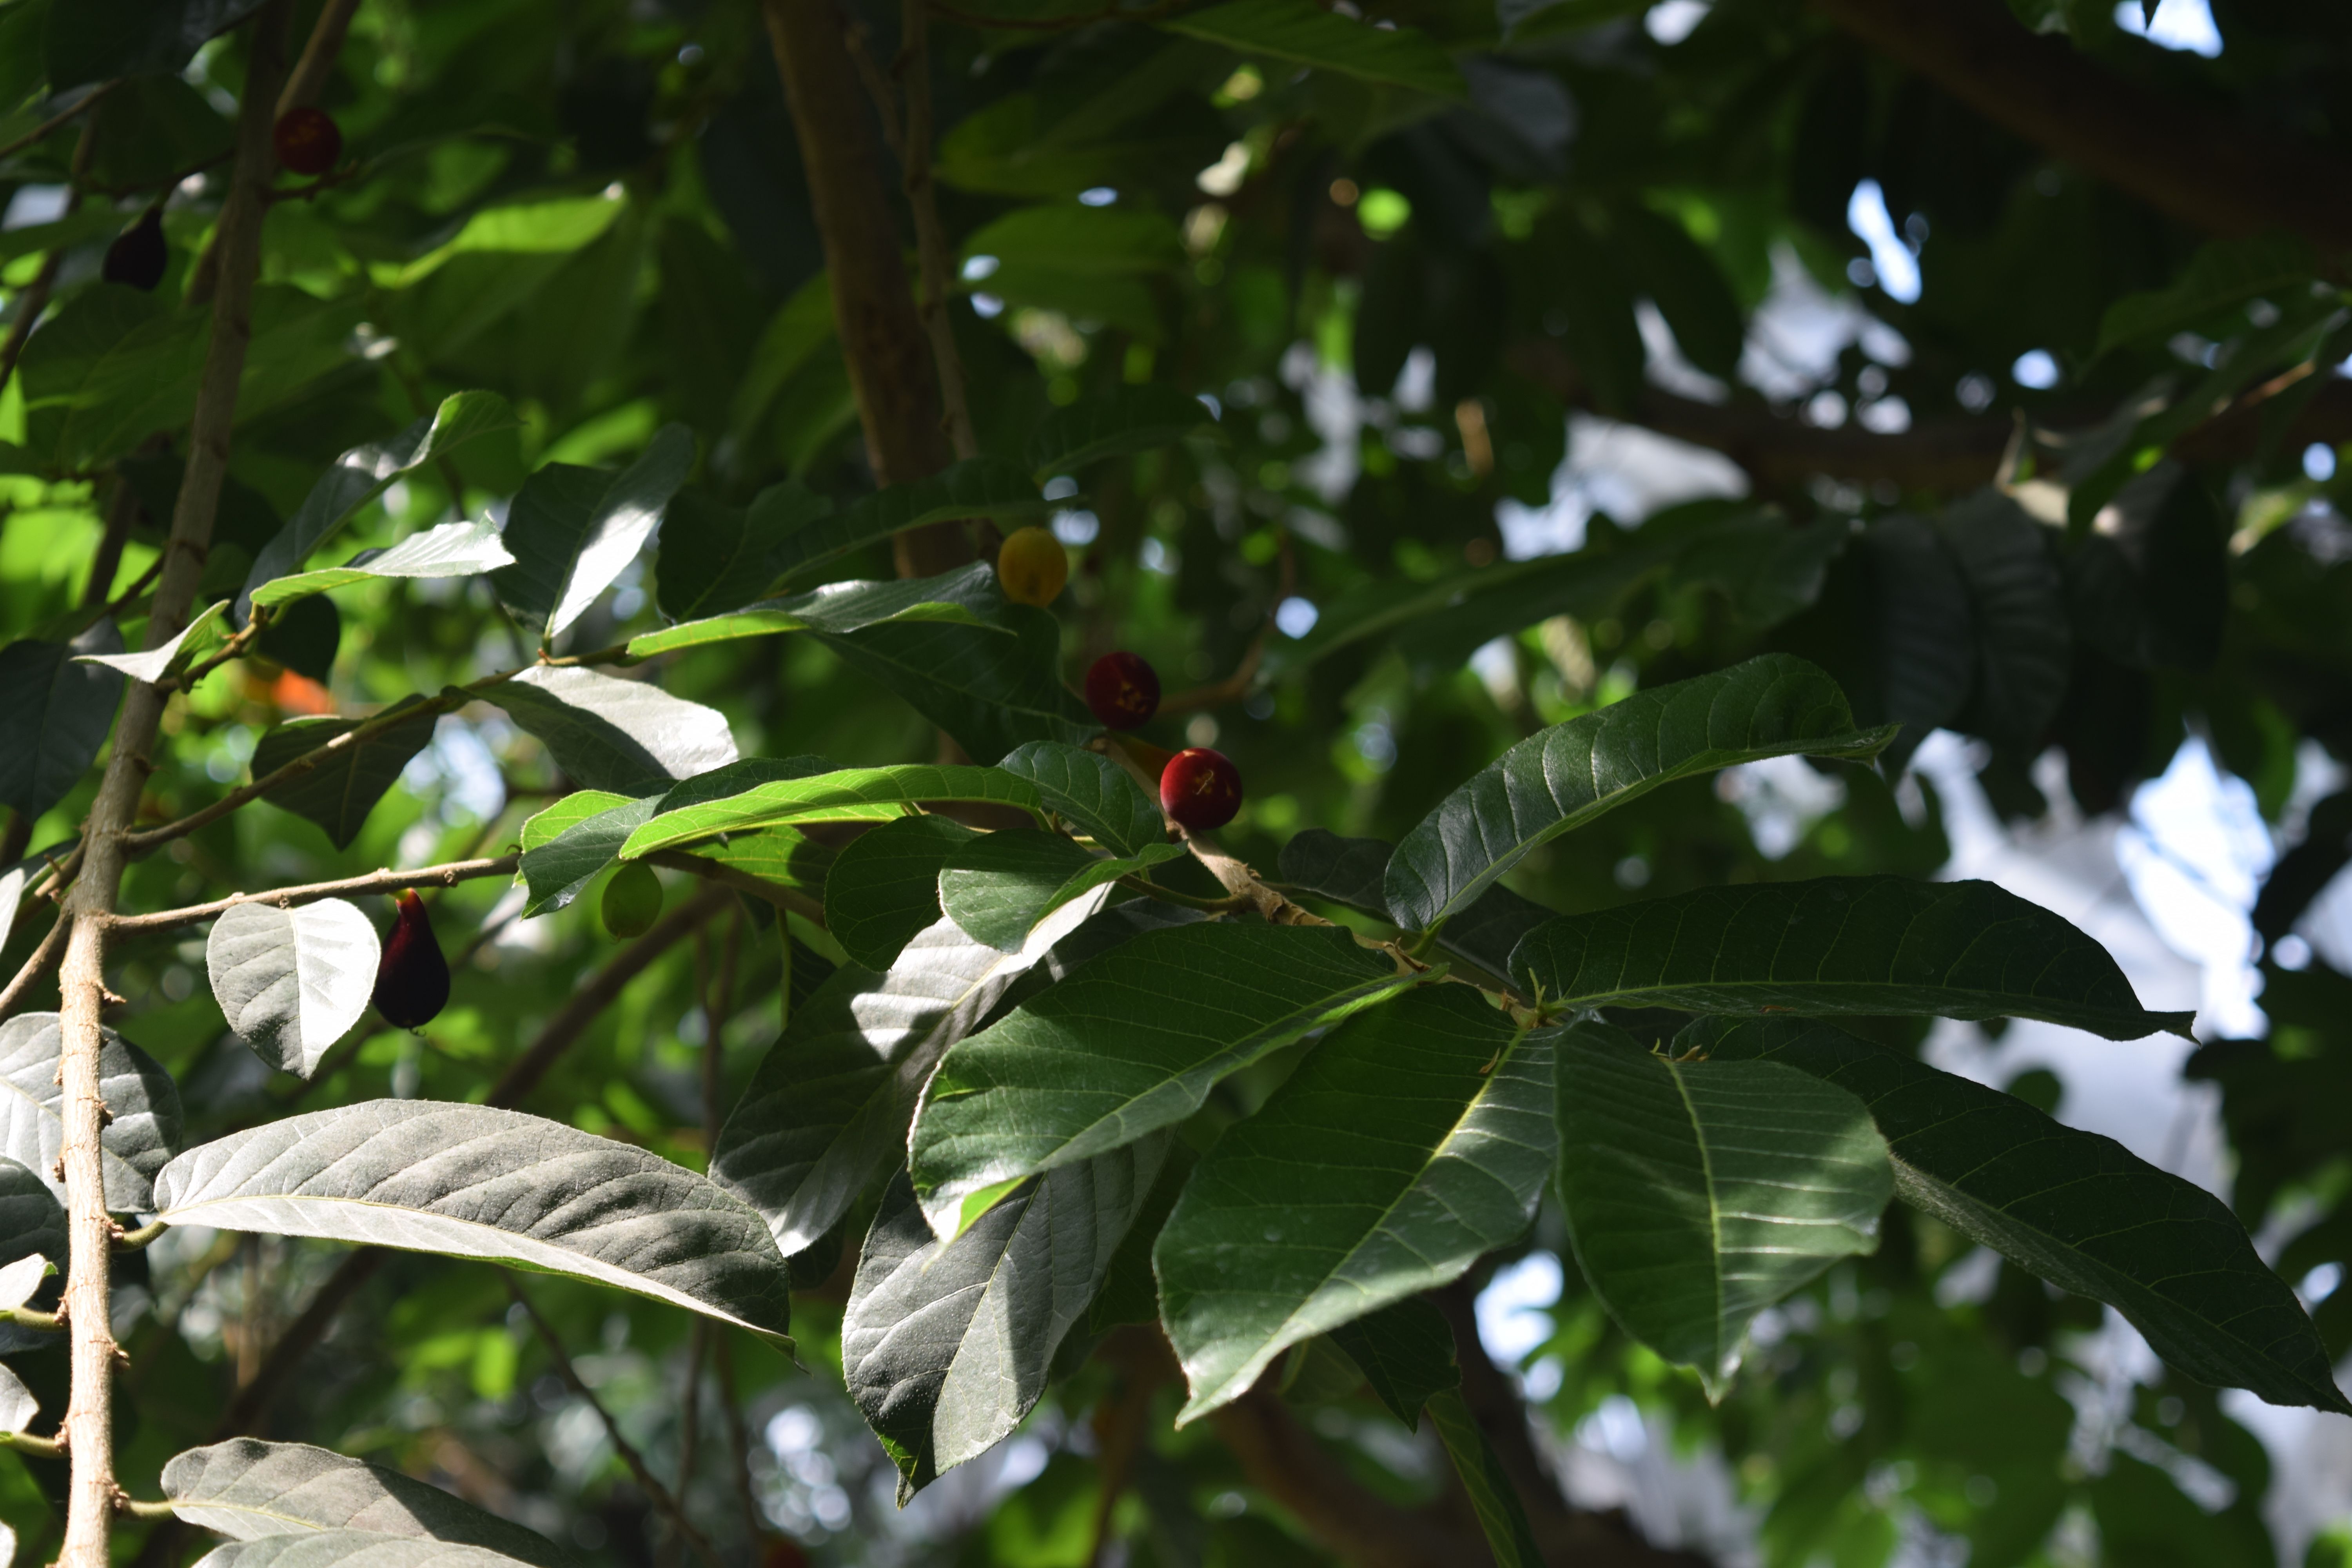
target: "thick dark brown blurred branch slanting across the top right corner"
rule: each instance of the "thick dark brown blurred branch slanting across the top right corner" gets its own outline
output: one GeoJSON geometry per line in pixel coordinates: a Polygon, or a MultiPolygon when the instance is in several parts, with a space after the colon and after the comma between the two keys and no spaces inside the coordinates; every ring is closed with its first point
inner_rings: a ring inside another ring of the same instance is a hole
{"type": "Polygon", "coordinates": [[[2352,249],[2352,162],[2103,71],[1994,0],[1813,0],[1813,9],[2058,158],[2213,235],[2284,228],[2352,249]]]}

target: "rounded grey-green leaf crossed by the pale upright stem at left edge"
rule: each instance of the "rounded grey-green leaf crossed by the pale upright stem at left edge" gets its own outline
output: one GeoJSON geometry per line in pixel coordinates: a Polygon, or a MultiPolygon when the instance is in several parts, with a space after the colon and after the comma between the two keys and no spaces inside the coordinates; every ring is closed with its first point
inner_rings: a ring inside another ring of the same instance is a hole
{"type": "MultiPolygon", "coordinates": [[[[56,1081],[64,1034],[56,1013],[16,1013],[0,1023],[0,1154],[40,1178],[66,1201],[56,1157],[66,1145],[56,1081]]],[[[179,1086],[162,1065],[113,1030],[99,1030],[99,1093],[108,1124],[99,1133],[106,1206],[115,1213],[151,1208],[151,1182],[179,1152],[179,1086]]]]}

